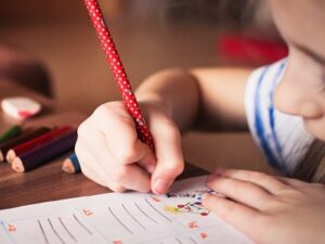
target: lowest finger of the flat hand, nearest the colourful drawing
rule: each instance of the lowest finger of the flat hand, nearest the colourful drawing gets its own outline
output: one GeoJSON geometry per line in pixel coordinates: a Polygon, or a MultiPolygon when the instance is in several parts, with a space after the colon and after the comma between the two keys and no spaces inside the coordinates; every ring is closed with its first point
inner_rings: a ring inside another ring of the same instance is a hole
{"type": "Polygon", "coordinates": [[[248,236],[257,231],[255,223],[260,214],[247,206],[211,194],[204,196],[203,205],[248,236]]]}

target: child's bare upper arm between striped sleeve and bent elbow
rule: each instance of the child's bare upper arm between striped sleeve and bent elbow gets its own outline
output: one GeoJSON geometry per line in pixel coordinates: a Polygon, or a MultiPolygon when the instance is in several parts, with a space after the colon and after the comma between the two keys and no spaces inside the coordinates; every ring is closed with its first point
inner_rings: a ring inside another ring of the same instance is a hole
{"type": "Polygon", "coordinates": [[[197,68],[192,74],[200,90],[200,128],[247,130],[245,88],[250,68],[197,68]]]}

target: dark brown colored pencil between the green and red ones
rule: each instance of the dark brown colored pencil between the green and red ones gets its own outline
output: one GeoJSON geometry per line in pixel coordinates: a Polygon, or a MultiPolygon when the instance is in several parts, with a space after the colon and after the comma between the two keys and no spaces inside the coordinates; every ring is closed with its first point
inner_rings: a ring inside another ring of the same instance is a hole
{"type": "Polygon", "coordinates": [[[49,127],[40,127],[40,128],[27,128],[23,131],[23,133],[16,138],[13,138],[6,142],[0,144],[0,162],[5,159],[5,154],[9,150],[32,140],[41,134],[49,132],[51,129],[49,127]]]}

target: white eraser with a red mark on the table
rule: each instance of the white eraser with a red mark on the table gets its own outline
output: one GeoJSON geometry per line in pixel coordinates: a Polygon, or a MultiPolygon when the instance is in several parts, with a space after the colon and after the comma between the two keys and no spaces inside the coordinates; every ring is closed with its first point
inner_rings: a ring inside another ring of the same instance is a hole
{"type": "Polygon", "coordinates": [[[2,111],[18,120],[27,119],[41,111],[41,104],[26,97],[6,98],[1,101],[2,111]]]}

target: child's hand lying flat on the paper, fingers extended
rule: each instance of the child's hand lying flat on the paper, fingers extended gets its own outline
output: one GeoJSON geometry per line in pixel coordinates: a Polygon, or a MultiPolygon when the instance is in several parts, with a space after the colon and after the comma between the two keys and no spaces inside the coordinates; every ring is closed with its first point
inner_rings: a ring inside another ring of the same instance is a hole
{"type": "Polygon", "coordinates": [[[218,169],[207,184],[227,198],[207,195],[203,204],[256,243],[325,241],[323,184],[234,169],[218,169]]]}

